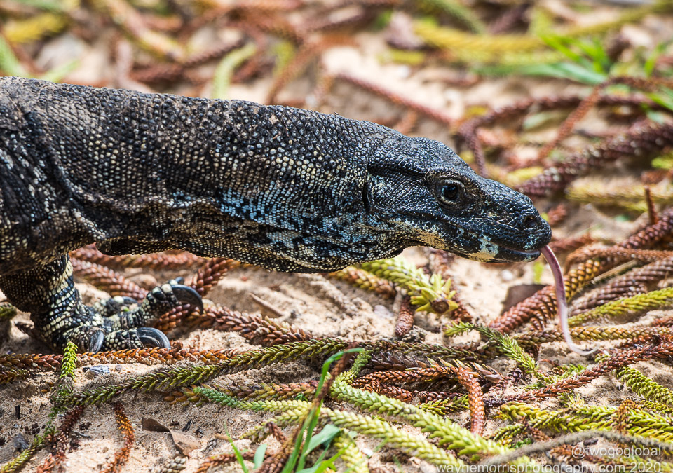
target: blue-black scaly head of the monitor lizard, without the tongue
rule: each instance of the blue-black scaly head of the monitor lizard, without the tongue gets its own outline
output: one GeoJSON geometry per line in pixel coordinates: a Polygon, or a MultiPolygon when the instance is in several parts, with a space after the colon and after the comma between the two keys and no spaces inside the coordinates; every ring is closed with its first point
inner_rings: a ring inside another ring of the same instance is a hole
{"type": "Polygon", "coordinates": [[[480,177],[440,142],[399,135],[369,160],[365,207],[409,245],[477,261],[532,261],[551,230],[532,201],[480,177]]]}

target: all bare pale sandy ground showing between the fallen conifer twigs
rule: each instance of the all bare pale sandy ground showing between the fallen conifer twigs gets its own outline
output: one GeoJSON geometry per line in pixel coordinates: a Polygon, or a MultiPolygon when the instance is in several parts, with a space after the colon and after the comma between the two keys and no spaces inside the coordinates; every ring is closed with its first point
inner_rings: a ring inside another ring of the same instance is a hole
{"type": "MultiPolygon", "coordinates": [[[[649,24],[644,27],[629,27],[635,37],[641,37],[641,29],[661,25],[649,24]]],[[[673,27],[669,31],[673,30],[673,27]]],[[[519,78],[503,78],[475,85],[473,88],[449,88],[437,77],[441,77],[441,70],[413,71],[409,67],[380,64],[376,55],[382,50],[383,43],[380,35],[361,34],[355,39],[359,48],[334,48],[327,53],[325,62],[332,71],[348,71],[356,76],[379,81],[387,88],[397,90],[402,94],[413,97],[414,100],[428,104],[436,109],[443,109],[454,118],[459,118],[467,107],[472,105],[487,105],[489,107],[509,104],[520,97],[530,94],[536,96],[559,94],[579,90],[575,86],[566,85],[560,81],[519,78]]],[[[95,52],[92,51],[92,57],[95,52]]],[[[90,64],[95,64],[92,59],[90,64]]],[[[88,71],[91,74],[100,74],[94,67],[88,71]]],[[[76,74],[86,76],[86,71],[77,71],[76,74]]],[[[78,77],[81,79],[81,77],[78,77]]],[[[231,96],[247,100],[264,100],[268,81],[261,79],[250,85],[234,85],[231,96]]],[[[299,80],[283,91],[281,98],[291,98],[299,94],[306,94],[311,90],[311,83],[299,80]]],[[[207,91],[206,91],[207,92],[207,91]]],[[[328,104],[322,111],[338,112],[351,118],[380,118],[395,120],[400,111],[395,110],[387,102],[372,97],[365,92],[351,88],[348,85],[339,85],[329,98],[328,104]]],[[[600,129],[601,123],[590,121],[586,128],[600,129]]],[[[433,121],[421,118],[419,127],[414,135],[422,135],[451,145],[449,132],[442,129],[433,121]]],[[[541,203],[541,210],[548,210],[550,204],[541,203]]],[[[616,223],[609,214],[592,207],[573,207],[573,214],[564,228],[555,231],[555,234],[566,235],[583,233],[586,228],[592,228],[599,237],[619,239],[632,231],[637,224],[634,222],[616,223]]],[[[412,261],[422,263],[423,255],[419,249],[409,249],[405,252],[412,261]]],[[[463,300],[468,301],[477,321],[489,322],[502,311],[502,303],[510,287],[533,282],[531,264],[515,266],[488,266],[482,263],[457,259],[452,271],[459,292],[463,300]]],[[[154,275],[157,280],[168,278],[175,273],[154,275]]],[[[189,274],[183,274],[185,277],[189,274]]],[[[543,282],[552,282],[551,274],[545,270],[543,282]]],[[[87,285],[79,285],[83,293],[89,298],[95,298],[96,292],[87,285]]],[[[257,312],[260,310],[249,294],[256,294],[262,299],[276,306],[284,313],[296,314],[290,322],[311,331],[315,336],[340,336],[349,340],[376,340],[393,336],[395,315],[392,301],[386,301],[375,294],[361,289],[355,289],[344,282],[327,279],[320,275],[292,275],[269,273],[254,268],[233,270],[222,282],[210,292],[208,299],[215,303],[229,306],[235,310],[257,312]]],[[[264,311],[262,313],[266,314],[264,311]]],[[[19,315],[16,320],[27,320],[25,315],[19,315]]],[[[416,323],[427,329],[421,334],[421,339],[428,343],[443,343],[440,334],[432,333],[433,327],[438,327],[447,320],[437,320],[437,317],[419,315],[416,323]],[[424,337],[424,338],[423,338],[424,337]]],[[[27,338],[15,327],[11,327],[9,337],[4,338],[1,344],[3,352],[44,352],[32,339],[27,338]]],[[[245,343],[245,339],[232,333],[219,331],[198,330],[190,333],[178,334],[177,339],[187,347],[193,348],[252,348],[245,343]]],[[[545,345],[541,358],[555,359],[559,362],[581,362],[576,355],[566,355],[567,350],[560,343],[545,345]]],[[[510,362],[499,362],[495,365],[501,371],[512,367],[510,362]]],[[[637,367],[653,376],[655,381],[669,384],[669,370],[658,364],[644,363],[637,367]]],[[[96,385],[115,383],[138,373],[152,371],[154,368],[144,365],[111,365],[110,372],[103,376],[94,376],[90,371],[78,369],[76,390],[90,388],[96,385]]],[[[315,366],[302,363],[270,366],[261,370],[250,370],[232,376],[217,379],[219,383],[256,383],[260,381],[288,383],[292,381],[308,381],[318,377],[315,366]]],[[[30,441],[34,434],[43,429],[50,403],[48,395],[49,383],[53,382],[53,373],[34,374],[27,380],[15,381],[0,387],[0,462],[5,462],[16,455],[15,438],[21,434],[26,441],[30,441]]],[[[618,399],[624,399],[623,387],[614,377],[604,376],[599,380],[579,390],[588,403],[613,404],[618,399]]],[[[187,461],[185,472],[192,472],[198,463],[208,455],[231,451],[231,446],[216,434],[229,432],[233,437],[261,423],[268,416],[248,411],[225,409],[215,404],[206,404],[201,407],[169,406],[159,394],[137,394],[135,392],[119,398],[125,407],[125,412],[135,427],[136,444],[128,464],[123,467],[124,472],[147,472],[149,467],[156,467],[177,455],[175,446],[168,434],[147,432],[142,429],[140,422],[143,417],[155,418],[166,425],[184,430],[200,440],[201,448],[193,451],[187,461]]],[[[555,400],[547,405],[554,406],[555,400]]],[[[333,405],[327,402],[327,405],[333,405]]],[[[468,423],[467,413],[455,415],[454,420],[462,425],[468,423]]],[[[489,421],[489,432],[501,425],[489,421]]],[[[414,431],[411,427],[407,430],[414,431]]],[[[67,471],[89,472],[106,465],[114,456],[114,452],[121,448],[122,438],[114,423],[114,416],[110,405],[93,406],[86,409],[75,429],[76,434],[73,451],[67,455],[67,471]]],[[[376,441],[367,440],[358,436],[358,444],[374,450],[376,441]]],[[[276,441],[268,439],[269,448],[278,446],[276,441]]],[[[249,441],[236,441],[239,448],[250,446],[249,441]]],[[[252,446],[254,448],[254,446],[252,446]]],[[[41,451],[31,460],[24,471],[34,472],[37,465],[43,462],[48,452],[41,451]]],[[[402,458],[402,457],[400,457],[402,458]]],[[[379,471],[395,471],[392,462],[393,455],[385,447],[377,452],[369,466],[381,467],[379,471]]],[[[414,458],[404,460],[405,471],[431,472],[433,467],[414,458]]],[[[238,471],[236,465],[224,467],[223,471],[238,471]]]]}

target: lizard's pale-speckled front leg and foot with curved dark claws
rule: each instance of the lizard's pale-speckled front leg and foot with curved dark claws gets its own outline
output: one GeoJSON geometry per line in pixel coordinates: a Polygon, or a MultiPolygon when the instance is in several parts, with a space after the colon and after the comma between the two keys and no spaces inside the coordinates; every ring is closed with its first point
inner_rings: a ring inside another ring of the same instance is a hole
{"type": "Polygon", "coordinates": [[[151,290],[137,308],[129,309],[135,301],[123,298],[85,306],[65,255],[43,266],[0,276],[0,289],[19,310],[30,313],[37,336],[55,350],[62,350],[68,341],[87,352],[169,348],[161,331],[146,326],[184,303],[201,307],[198,293],[175,281],[151,290]]]}

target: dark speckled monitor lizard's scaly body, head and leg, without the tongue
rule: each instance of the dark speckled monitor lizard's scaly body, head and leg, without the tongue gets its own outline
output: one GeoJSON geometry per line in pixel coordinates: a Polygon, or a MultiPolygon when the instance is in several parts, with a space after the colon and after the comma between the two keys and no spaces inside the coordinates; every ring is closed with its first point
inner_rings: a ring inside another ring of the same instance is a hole
{"type": "Polygon", "coordinates": [[[412,245],[530,261],[549,240],[529,198],[430,139],[290,107],[0,78],[0,289],[55,348],[165,345],[137,327],[196,303],[174,282],[130,313],[83,306],[65,255],[92,242],[318,273],[412,245]]]}

